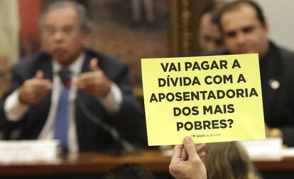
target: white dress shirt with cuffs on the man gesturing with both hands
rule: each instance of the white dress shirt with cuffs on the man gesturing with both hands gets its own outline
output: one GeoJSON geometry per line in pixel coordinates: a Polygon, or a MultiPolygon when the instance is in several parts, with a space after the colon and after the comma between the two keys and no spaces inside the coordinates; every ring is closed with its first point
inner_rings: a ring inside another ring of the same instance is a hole
{"type": "MultiPolygon", "coordinates": [[[[77,141],[77,131],[75,127],[75,99],[77,97],[77,87],[75,86],[75,82],[80,75],[82,70],[82,65],[85,61],[85,53],[82,53],[74,63],[72,63],[68,69],[72,72],[72,86],[70,87],[69,93],[69,106],[68,106],[68,151],[69,152],[77,152],[79,151],[79,145],[77,141]]],[[[48,119],[43,126],[38,139],[53,139],[54,135],[54,121],[55,114],[58,107],[58,101],[60,98],[60,93],[62,91],[62,81],[58,76],[58,71],[61,69],[61,65],[56,61],[52,60],[53,63],[53,89],[51,95],[51,106],[48,114],[48,119]]],[[[104,108],[109,112],[109,114],[115,114],[118,112],[121,107],[122,102],[122,94],[121,89],[117,87],[114,82],[111,82],[111,88],[109,94],[106,97],[97,97],[97,100],[102,102],[104,108]]],[[[7,118],[10,121],[18,121],[21,117],[26,114],[29,106],[26,104],[22,104],[19,100],[19,92],[16,89],[12,94],[7,97],[4,102],[4,112],[7,118]]]]}

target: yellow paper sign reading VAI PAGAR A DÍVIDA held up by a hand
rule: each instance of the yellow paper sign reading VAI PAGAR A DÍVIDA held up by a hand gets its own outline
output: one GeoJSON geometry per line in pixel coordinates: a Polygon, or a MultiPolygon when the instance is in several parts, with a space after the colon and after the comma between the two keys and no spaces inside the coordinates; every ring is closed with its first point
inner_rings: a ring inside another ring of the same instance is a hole
{"type": "Polygon", "coordinates": [[[142,59],[148,145],[265,139],[258,54],[142,59]]]}

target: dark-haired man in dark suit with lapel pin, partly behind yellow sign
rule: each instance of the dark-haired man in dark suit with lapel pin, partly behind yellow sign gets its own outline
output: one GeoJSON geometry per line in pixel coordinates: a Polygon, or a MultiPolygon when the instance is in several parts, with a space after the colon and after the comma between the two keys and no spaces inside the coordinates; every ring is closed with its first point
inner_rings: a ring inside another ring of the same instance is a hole
{"type": "Polygon", "coordinates": [[[294,53],[268,39],[268,23],[254,1],[227,4],[216,21],[227,48],[217,54],[258,53],[266,136],[294,146],[294,53]]]}

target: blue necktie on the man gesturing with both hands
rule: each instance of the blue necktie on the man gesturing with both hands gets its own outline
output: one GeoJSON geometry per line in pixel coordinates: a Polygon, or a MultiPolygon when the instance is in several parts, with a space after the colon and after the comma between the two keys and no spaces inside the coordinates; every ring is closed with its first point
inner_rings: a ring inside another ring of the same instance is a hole
{"type": "Polygon", "coordinates": [[[68,94],[70,92],[70,71],[62,69],[58,72],[62,80],[62,92],[58,102],[54,123],[54,139],[60,140],[62,151],[67,151],[67,133],[68,133],[68,94]]]}

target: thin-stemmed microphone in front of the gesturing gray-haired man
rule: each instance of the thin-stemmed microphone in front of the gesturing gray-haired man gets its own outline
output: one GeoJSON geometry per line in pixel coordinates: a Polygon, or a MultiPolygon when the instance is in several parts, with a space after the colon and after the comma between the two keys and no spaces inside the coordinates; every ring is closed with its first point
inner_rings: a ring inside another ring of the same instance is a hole
{"type": "MultiPolygon", "coordinates": [[[[70,70],[62,69],[58,72],[58,75],[63,85],[65,85],[65,87],[70,87],[71,75],[72,75],[70,70]]],[[[87,108],[87,105],[85,104],[85,102],[83,102],[79,96],[77,96],[76,101],[77,101],[77,105],[80,107],[80,109],[82,109],[82,112],[85,114],[87,119],[89,119],[90,121],[92,121],[92,123],[102,128],[104,131],[107,131],[107,133],[110,134],[112,139],[114,139],[114,141],[118,143],[119,146],[124,148],[124,150],[126,150],[127,152],[135,151],[134,146],[132,146],[131,143],[129,143],[128,141],[126,141],[126,139],[122,138],[121,135],[119,135],[119,131],[117,131],[113,126],[110,126],[109,124],[102,121],[102,119],[100,119],[98,116],[95,116],[94,114],[92,114],[92,112],[90,112],[89,109],[87,108]]]]}

